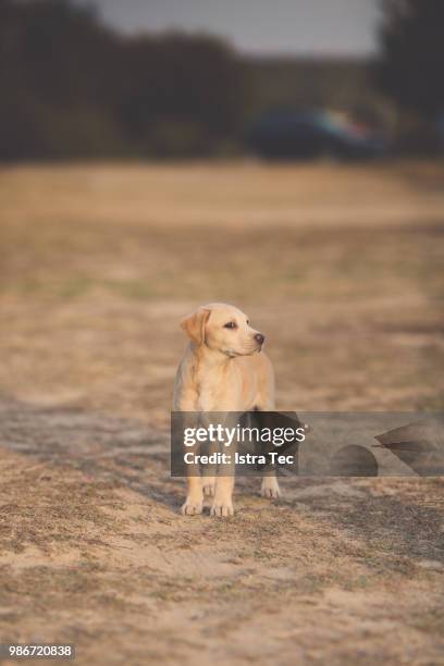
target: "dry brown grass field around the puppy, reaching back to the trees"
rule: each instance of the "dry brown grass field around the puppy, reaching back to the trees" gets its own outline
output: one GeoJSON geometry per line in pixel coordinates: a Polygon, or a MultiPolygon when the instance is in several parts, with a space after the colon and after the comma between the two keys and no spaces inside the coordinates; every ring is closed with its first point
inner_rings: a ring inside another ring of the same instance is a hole
{"type": "Polygon", "coordinates": [[[79,664],[444,664],[444,483],[284,481],[184,519],[180,318],[268,337],[278,406],[444,409],[444,165],[0,170],[0,642],[79,664]]]}

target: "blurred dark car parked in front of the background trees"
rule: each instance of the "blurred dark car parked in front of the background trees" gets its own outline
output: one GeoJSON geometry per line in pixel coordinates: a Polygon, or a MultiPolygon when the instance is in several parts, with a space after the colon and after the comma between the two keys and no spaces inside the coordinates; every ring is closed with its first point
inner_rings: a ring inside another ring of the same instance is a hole
{"type": "Polygon", "coordinates": [[[330,111],[270,111],[250,126],[246,141],[266,159],[365,160],[385,152],[380,132],[330,111]]]}

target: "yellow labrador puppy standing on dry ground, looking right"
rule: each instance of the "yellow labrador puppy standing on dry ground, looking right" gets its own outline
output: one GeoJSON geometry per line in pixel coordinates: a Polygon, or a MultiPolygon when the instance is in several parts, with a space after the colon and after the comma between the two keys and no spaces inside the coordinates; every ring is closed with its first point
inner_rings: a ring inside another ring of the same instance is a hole
{"type": "MultiPolygon", "coordinates": [[[[175,411],[249,411],[274,409],[274,377],[262,351],[264,336],[237,308],[212,303],[185,317],[189,344],[177,369],[175,411]]],[[[233,515],[234,476],[189,476],[184,515],[202,510],[203,494],[214,497],[212,516],[233,515]]],[[[262,479],[261,493],[276,498],[275,476],[262,479]]]]}

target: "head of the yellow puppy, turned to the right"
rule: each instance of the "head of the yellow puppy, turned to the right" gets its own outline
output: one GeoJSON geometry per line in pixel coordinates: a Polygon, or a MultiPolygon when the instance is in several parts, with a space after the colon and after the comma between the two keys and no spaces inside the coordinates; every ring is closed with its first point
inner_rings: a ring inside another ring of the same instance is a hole
{"type": "Polygon", "coordinates": [[[222,303],[198,308],[185,317],[181,325],[196,345],[206,345],[231,357],[260,351],[266,340],[250,326],[244,312],[222,303]]]}

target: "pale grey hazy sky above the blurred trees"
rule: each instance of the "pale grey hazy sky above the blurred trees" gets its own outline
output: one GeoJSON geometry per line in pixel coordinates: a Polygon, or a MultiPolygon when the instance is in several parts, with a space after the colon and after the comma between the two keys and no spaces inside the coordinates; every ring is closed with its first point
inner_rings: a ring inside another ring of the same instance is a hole
{"type": "MultiPolygon", "coordinates": [[[[77,0],[82,2],[84,0],[77,0]]],[[[126,32],[206,30],[249,53],[367,54],[378,0],[94,0],[126,32]]]]}

